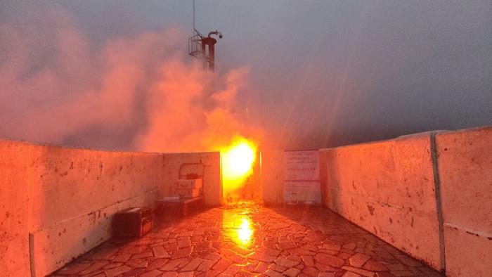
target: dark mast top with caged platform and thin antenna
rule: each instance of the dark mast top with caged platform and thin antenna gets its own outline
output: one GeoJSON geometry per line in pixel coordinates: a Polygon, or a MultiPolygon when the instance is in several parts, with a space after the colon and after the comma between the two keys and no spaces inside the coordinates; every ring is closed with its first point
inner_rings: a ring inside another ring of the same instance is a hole
{"type": "Polygon", "coordinates": [[[193,0],[193,35],[188,38],[188,54],[200,60],[203,60],[203,67],[209,70],[215,69],[215,44],[217,42],[212,34],[222,38],[222,33],[215,30],[209,32],[205,37],[195,28],[195,0],[193,0]]]}

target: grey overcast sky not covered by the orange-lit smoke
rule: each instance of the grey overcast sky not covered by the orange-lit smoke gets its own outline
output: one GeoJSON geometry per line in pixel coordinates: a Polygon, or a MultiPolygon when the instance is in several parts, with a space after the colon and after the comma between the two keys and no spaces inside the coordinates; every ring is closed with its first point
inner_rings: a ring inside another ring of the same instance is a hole
{"type": "MultiPolygon", "coordinates": [[[[66,9],[93,47],[171,26],[192,31],[190,0],[44,3],[66,9]]],[[[195,13],[200,32],[224,33],[218,72],[250,68],[239,107],[278,147],[492,124],[492,1],[196,0],[195,13]]],[[[14,1],[0,15],[22,17],[14,1]]]]}

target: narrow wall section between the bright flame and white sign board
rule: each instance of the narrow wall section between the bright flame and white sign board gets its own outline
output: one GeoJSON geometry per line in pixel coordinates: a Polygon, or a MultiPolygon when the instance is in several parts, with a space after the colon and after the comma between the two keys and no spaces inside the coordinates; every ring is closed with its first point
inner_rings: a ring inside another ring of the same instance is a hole
{"type": "Polygon", "coordinates": [[[266,205],[283,204],[283,150],[261,150],[261,188],[266,205]]]}

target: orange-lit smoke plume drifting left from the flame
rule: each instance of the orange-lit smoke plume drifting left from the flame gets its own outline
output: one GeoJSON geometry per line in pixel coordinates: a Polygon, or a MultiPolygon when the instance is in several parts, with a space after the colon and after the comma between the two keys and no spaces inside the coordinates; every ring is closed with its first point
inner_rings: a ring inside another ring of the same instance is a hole
{"type": "Polygon", "coordinates": [[[60,6],[11,8],[0,21],[0,136],[145,151],[261,136],[236,110],[247,67],[203,70],[178,27],[96,44],[60,6]]]}

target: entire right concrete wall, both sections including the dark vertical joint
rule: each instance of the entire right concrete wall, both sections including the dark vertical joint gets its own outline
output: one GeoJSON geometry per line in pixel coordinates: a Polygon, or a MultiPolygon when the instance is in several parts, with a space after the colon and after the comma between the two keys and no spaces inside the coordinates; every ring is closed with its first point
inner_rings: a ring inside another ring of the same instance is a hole
{"type": "Polygon", "coordinates": [[[492,127],[320,150],[326,207],[448,276],[492,272],[492,127]]]}

